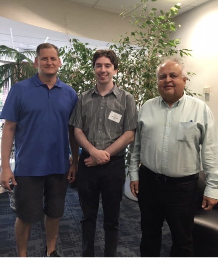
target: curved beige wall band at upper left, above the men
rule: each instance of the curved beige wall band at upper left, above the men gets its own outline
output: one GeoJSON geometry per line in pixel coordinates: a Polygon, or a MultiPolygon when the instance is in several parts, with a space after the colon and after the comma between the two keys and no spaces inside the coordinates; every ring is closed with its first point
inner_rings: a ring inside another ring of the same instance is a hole
{"type": "Polygon", "coordinates": [[[65,0],[1,0],[0,16],[58,32],[101,41],[119,39],[128,19],[65,0]]]}

